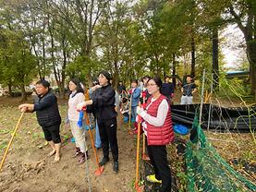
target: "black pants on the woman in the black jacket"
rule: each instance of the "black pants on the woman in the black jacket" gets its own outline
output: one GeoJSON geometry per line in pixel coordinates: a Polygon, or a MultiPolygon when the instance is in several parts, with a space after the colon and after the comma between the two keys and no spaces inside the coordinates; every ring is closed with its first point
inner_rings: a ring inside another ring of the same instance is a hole
{"type": "Polygon", "coordinates": [[[110,120],[99,120],[98,126],[100,130],[101,141],[104,150],[104,157],[109,158],[109,145],[111,148],[114,162],[118,161],[118,145],[116,138],[116,118],[110,120]]]}

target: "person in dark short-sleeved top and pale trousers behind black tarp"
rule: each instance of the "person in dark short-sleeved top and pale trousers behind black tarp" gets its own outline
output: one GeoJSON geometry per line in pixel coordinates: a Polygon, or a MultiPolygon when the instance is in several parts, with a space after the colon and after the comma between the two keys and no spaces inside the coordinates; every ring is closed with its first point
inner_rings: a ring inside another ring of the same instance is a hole
{"type": "Polygon", "coordinates": [[[180,104],[192,104],[193,94],[197,91],[197,87],[190,75],[187,76],[186,80],[186,84],[181,88],[182,96],[180,104]]]}

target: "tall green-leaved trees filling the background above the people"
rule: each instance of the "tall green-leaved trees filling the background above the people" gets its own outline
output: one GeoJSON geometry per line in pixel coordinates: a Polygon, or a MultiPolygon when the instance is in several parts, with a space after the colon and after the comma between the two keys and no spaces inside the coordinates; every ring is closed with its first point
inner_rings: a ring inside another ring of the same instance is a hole
{"type": "MultiPolygon", "coordinates": [[[[107,69],[114,84],[145,74],[201,78],[207,68],[218,88],[224,70],[218,34],[236,24],[250,66],[248,93],[256,90],[254,0],[48,1],[1,0],[0,83],[24,87],[55,78],[64,95],[68,78],[91,84],[107,69]],[[250,89],[250,90],[249,90],[250,89]]],[[[236,40],[234,40],[236,41],[236,40]]],[[[234,65],[234,68],[237,67],[234,65]]]]}

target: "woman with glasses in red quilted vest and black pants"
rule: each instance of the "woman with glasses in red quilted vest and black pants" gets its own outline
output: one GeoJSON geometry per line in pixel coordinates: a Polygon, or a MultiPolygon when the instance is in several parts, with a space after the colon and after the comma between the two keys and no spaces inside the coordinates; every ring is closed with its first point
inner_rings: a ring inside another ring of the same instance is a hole
{"type": "Polygon", "coordinates": [[[161,94],[161,78],[150,78],[147,89],[151,94],[146,109],[137,108],[144,122],[143,130],[147,136],[147,150],[152,162],[154,174],[148,175],[150,182],[162,183],[161,192],[171,191],[171,170],[167,162],[166,145],[174,139],[171,109],[167,98],[161,94]]]}

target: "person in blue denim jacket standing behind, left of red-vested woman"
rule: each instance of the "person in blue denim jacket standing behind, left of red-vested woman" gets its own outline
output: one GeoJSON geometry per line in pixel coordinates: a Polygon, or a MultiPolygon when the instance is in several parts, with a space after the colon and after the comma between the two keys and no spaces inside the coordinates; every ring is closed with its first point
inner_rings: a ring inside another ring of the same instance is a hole
{"type": "Polygon", "coordinates": [[[131,90],[129,90],[131,100],[131,122],[135,122],[136,109],[140,102],[140,88],[138,88],[138,80],[135,79],[131,82],[131,90]]]}

